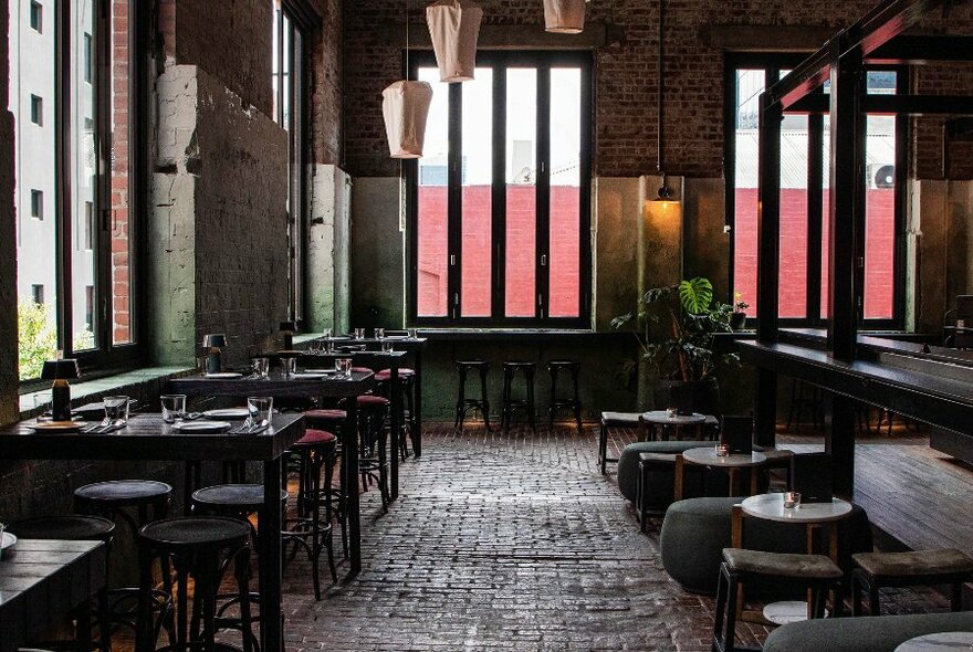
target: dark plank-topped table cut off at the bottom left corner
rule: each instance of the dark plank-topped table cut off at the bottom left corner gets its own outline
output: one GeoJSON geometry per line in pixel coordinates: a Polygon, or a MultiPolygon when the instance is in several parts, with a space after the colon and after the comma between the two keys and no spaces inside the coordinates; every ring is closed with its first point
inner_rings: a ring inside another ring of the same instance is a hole
{"type": "Polygon", "coordinates": [[[15,652],[105,587],[105,544],[21,539],[0,559],[0,652],[15,652]]]}

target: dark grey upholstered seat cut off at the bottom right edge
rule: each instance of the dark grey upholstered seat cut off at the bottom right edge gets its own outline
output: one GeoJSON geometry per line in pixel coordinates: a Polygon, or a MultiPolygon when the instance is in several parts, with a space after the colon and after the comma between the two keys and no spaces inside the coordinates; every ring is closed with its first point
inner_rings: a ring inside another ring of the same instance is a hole
{"type": "Polygon", "coordinates": [[[973,611],[805,620],[777,628],[763,652],[894,652],[916,637],[973,631],[973,611]]]}

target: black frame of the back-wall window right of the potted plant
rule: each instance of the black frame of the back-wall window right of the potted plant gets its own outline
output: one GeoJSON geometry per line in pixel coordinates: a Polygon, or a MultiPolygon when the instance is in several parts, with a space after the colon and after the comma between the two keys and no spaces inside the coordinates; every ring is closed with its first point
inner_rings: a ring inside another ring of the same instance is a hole
{"type": "MultiPolygon", "coordinates": [[[[793,70],[806,59],[804,54],[794,53],[760,53],[728,52],[723,61],[723,175],[725,224],[730,227],[730,263],[728,274],[728,302],[735,303],[733,297],[736,262],[736,72],[740,70],[764,70],[765,87],[780,78],[782,70],[793,70]]],[[[893,65],[870,65],[867,72],[892,71],[896,73],[896,93],[908,93],[909,69],[893,65]]],[[[818,90],[822,93],[823,90],[818,90]]],[[[864,328],[875,330],[903,329],[906,326],[906,227],[908,161],[909,161],[909,123],[899,116],[896,120],[896,197],[894,204],[894,259],[892,261],[892,317],[862,319],[864,328]]],[[[823,153],[824,116],[808,116],[808,210],[807,210],[807,283],[806,307],[804,317],[781,317],[782,328],[824,328],[827,318],[822,315],[822,238],[824,221],[828,219],[824,211],[823,192],[813,192],[812,187],[824,189],[824,175],[828,173],[824,165],[823,153]],[[810,156],[813,151],[818,154],[810,156]],[[815,219],[815,215],[818,219],[815,219]]],[[[757,306],[760,309],[760,306],[757,306]]],[[[755,327],[756,317],[746,319],[749,327],[755,327]]]]}

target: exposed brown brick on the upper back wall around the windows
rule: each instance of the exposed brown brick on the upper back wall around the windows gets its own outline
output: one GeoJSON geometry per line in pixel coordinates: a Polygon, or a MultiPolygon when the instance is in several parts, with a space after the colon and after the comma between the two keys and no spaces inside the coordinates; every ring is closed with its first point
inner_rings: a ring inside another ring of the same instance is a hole
{"type": "MultiPolygon", "coordinates": [[[[669,0],[666,27],[665,159],[669,172],[689,177],[723,176],[723,52],[705,43],[712,24],[816,25],[837,31],[858,19],[873,0],[669,0]]],[[[657,2],[594,0],[592,21],[625,30],[624,43],[595,55],[597,176],[632,177],[656,169],[657,2]]],[[[485,6],[484,24],[536,24],[543,29],[540,2],[502,0],[485,6]]],[[[362,0],[345,23],[345,105],[347,168],[353,176],[395,176],[398,166],[385,154],[381,90],[401,74],[400,51],[379,42],[376,27],[402,25],[404,0],[362,0]]],[[[409,4],[412,23],[425,20],[409,4]]],[[[973,24],[970,6],[954,8],[949,19],[956,33],[973,24]],[[964,28],[965,25],[965,28],[964,28]]],[[[937,14],[923,28],[940,29],[937,14]]],[[[970,33],[966,29],[965,33],[970,33]]],[[[753,44],[755,48],[760,43],[753,44]]],[[[969,80],[965,80],[970,90],[969,80]]],[[[923,143],[923,160],[938,160],[934,141],[923,143]]],[[[924,167],[923,167],[924,169],[924,167]]]]}

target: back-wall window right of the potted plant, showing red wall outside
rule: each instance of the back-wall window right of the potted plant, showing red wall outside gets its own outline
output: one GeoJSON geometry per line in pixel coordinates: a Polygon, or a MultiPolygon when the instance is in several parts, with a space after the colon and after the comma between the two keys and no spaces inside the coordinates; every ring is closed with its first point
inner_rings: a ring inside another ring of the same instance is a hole
{"type": "MultiPolygon", "coordinates": [[[[726,66],[726,213],[733,227],[731,287],[756,316],[757,127],[760,95],[797,60],[731,57],[726,66]]],[[[867,74],[868,93],[896,93],[900,71],[867,74]]],[[[825,84],[822,92],[828,92],[825,84]]],[[[901,326],[906,120],[868,116],[865,319],[901,326]]],[[[780,316],[787,325],[820,326],[828,304],[828,116],[785,115],[781,129],[780,316]]]]}

